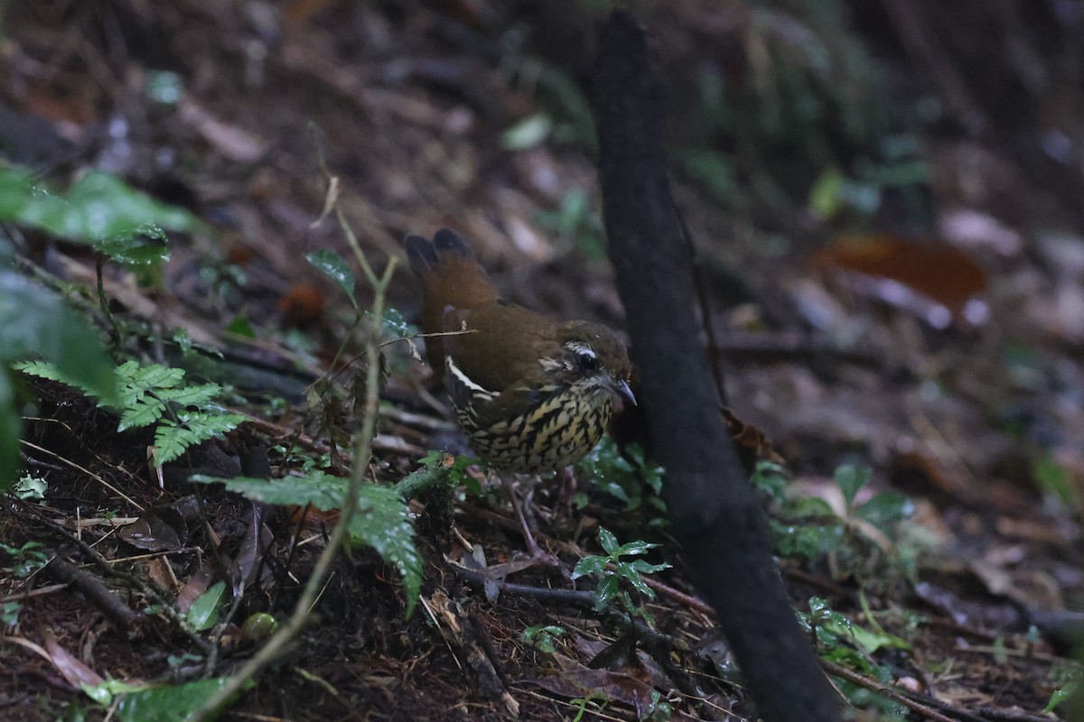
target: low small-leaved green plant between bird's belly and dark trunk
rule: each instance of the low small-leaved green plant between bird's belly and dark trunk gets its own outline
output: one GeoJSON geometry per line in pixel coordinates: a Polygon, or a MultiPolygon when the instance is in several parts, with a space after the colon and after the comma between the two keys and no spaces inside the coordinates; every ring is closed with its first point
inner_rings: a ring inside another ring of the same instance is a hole
{"type": "MultiPolygon", "coordinates": [[[[617,497],[627,511],[645,511],[649,514],[646,525],[649,528],[662,528],[668,523],[667,504],[662,499],[662,481],[666,471],[644,458],[644,450],[636,444],[618,449],[609,436],[603,436],[602,442],[579,462],[595,487],[617,497]]],[[[579,497],[582,508],[585,497],[579,497]]]]}

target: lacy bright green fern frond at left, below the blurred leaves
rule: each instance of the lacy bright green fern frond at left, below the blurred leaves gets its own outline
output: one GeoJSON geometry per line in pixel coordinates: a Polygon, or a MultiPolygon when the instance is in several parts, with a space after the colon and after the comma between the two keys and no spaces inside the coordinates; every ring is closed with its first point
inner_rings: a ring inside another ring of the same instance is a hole
{"type": "Polygon", "coordinates": [[[59,381],[96,397],[105,408],[119,412],[117,431],[154,426],[155,462],[179,459],[195,444],[220,438],[245,417],[218,403],[217,383],[184,385],[184,369],[128,360],[114,369],[119,388],[117,403],[102,399],[98,390],[73,378],[49,362],[23,362],[14,368],[29,376],[59,381]]]}

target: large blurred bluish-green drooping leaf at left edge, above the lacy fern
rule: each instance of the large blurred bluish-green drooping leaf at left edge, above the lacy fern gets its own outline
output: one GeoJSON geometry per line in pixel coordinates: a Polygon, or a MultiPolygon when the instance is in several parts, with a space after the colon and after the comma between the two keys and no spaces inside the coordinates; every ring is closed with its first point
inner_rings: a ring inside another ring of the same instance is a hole
{"type": "Polygon", "coordinates": [[[0,268],[0,363],[33,356],[53,364],[65,383],[116,402],[113,363],[98,334],[51,291],[0,268]]]}

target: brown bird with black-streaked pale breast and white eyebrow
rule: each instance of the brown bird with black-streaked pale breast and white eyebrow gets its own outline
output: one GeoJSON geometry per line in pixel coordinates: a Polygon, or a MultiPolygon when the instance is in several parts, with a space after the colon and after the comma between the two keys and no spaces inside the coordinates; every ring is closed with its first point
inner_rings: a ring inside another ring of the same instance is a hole
{"type": "Polygon", "coordinates": [[[632,365],[614,331],[502,301],[448,228],[404,242],[422,284],[423,330],[452,332],[427,341],[429,365],[443,372],[460,426],[492,469],[537,474],[576,463],[602,438],[614,397],[635,404],[632,365]]]}

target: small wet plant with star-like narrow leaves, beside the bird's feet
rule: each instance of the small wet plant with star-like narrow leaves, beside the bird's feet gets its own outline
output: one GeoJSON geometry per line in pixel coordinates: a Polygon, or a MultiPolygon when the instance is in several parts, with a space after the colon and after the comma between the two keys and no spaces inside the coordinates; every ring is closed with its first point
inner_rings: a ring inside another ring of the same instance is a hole
{"type": "Polygon", "coordinates": [[[648,564],[642,559],[630,562],[623,557],[646,554],[659,544],[646,541],[630,541],[627,544],[619,544],[617,537],[603,527],[598,528],[598,543],[602,544],[606,554],[592,554],[581,559],[576,563],[576,568],[572,569],[572,579],[591,576],[599,580],[598,586],[595,587],[595,612],[602,612],[618,601],[630,617],[640,617],[654,625],[655,617],[646,607],[633,601],[629,587],[641,596],[654,600],[655,592],[644,583],[643,575],[669,569],[670,565],[666,563],[648,564]],[[612,565],[614,568],[608,568],[609,565],[612,565]]]}

